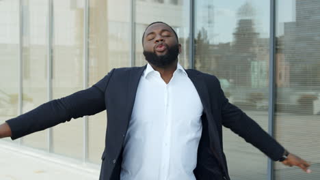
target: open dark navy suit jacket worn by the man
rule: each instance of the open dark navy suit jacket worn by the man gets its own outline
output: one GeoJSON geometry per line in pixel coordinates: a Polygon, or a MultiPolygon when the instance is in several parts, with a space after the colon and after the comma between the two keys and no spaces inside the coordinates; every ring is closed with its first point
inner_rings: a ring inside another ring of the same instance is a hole
{"type": "MultiPolygon", "coordinates": [[[[102,155],[100,179],[120,179],[124,137],[139,79],[145,68],[146,65],[113,69],[88,89],[47,102],[8,120],[12,139],[106,109],[106,147],[102,155]]],[[[198,162],[194,170],[196,179],[230,179],[222,145],[222,125],[239,134],[272,160],[278,160],[282,156],[284,148],[244,112],[228,102],[215,76],[196,70],[186,72],[204,107],[198,162]]]]}

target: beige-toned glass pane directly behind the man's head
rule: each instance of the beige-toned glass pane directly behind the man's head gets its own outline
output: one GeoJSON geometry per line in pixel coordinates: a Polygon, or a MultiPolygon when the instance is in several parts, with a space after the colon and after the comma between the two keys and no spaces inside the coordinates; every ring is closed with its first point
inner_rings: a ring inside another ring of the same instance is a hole
{"type": "Polygon", "coordinates": [[[179,37],[182,52],[179,63],[189,67],[189,1],[180,1],[172,5],[171,1],[136,1],[135,2],[135,66],[146,65],[142,48],[142,35],[146,27],[155,21],[170,25],[179,37]],[[142,8],[144,7],[144,8],[142,8]],[[170,8],[169,8],[170,7],[170,8]]]}

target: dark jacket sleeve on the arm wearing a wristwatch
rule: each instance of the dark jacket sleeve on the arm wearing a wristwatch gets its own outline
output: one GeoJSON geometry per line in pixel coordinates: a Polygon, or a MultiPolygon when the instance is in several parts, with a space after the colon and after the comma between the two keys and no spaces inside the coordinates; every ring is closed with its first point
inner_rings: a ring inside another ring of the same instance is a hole
{"type": "Polygon", "coordinates": [[[254,147],[270,157],[271,160],[279,160],[284,153],[284,147],[267,134],[258,123],[248,117],[245,112],[228,102],[219,81],[218,86],[220,102],[222,103],[222,125],[230,128],[232,132],[244,138],[246,142],[254,145],[254,147]]]}

